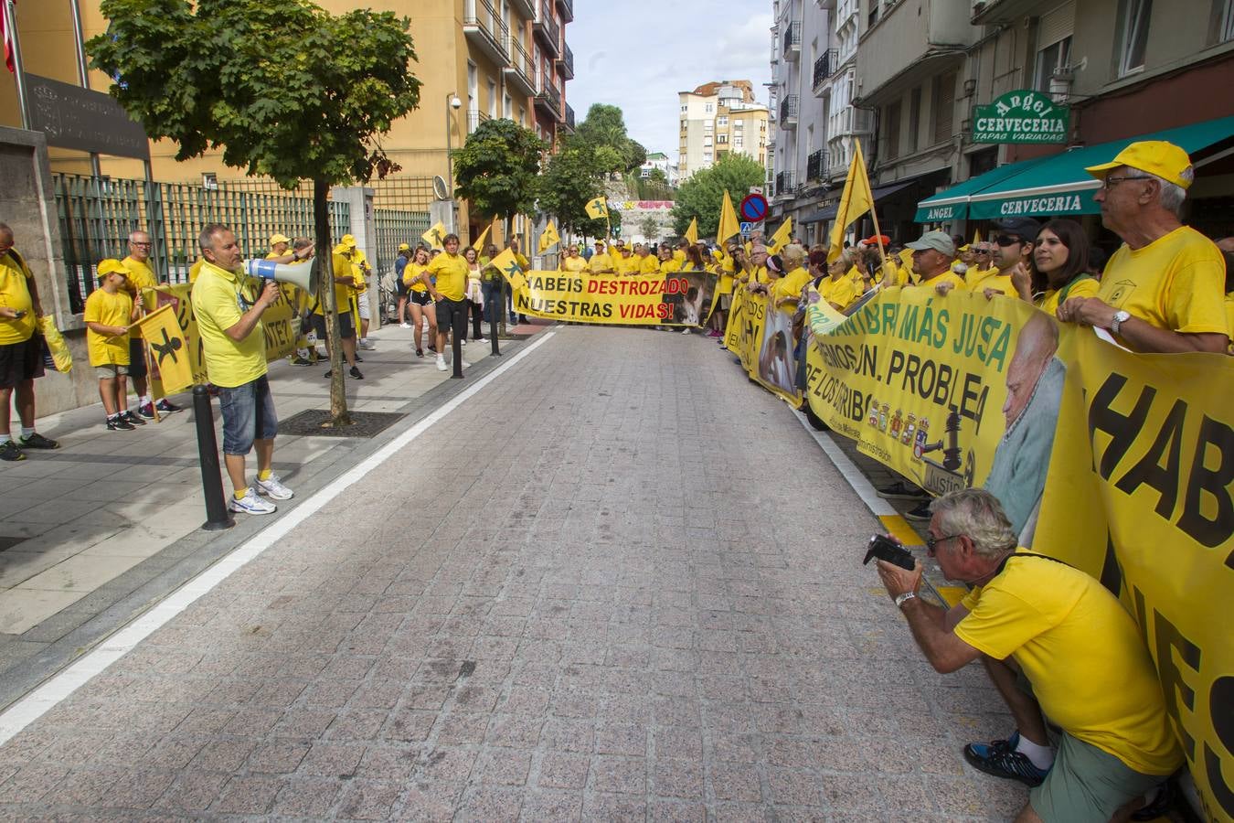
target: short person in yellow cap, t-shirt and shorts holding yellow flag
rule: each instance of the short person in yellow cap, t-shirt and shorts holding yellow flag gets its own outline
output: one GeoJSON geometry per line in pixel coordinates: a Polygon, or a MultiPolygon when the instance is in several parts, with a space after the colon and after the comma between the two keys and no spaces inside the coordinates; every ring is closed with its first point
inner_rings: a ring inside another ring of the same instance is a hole
{"type": "Polygon", "coordinates": [[[125,290],[128,269],[120,260],[101,260],[99,287],[85,299],[85,347],[94,376],[99,380],[99,399],[109,432],[131,432],[146,421],[128,408],[125,387],[128,374],[128,327],[137,320],[142,295],[131,297],[125,290]]]}

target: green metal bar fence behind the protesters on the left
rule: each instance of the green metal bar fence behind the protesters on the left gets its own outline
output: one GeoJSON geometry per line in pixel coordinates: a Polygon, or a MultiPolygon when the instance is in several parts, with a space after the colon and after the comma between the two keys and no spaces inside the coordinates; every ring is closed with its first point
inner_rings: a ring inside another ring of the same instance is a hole
{"type": "MultiPolygon", "coordinates": [[[[80,312],[97,285],[95,267],[105,258],[128,254],[128,234],[151,236],[154,270],[172,283],[185,283],[197,258],[197,233],[207,223],[227,223],[246,257],[264,257],[270,234],[313,233],[312,197],[221,185],[153,183],[116,178],[54,174],[70,311],[80,312]]],[[[346,202],[329,202],[331,233],[352,230],[346,202]]]]}

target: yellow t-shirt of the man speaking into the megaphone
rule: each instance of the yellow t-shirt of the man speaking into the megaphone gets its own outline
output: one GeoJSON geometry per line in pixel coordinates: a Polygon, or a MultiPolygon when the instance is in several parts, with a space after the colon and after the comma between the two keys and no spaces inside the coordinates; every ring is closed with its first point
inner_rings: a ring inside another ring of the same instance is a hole
{"type": "Polygon", "coordinates": [[[234,389],[265,374],[265,329],[257,321],[248,337],[237,342],[226,329],[249,310],[243,281],[232,271],[205,263],[193,284],[193,315],[197,318],[201,352],[210,383],[234,389]]]}

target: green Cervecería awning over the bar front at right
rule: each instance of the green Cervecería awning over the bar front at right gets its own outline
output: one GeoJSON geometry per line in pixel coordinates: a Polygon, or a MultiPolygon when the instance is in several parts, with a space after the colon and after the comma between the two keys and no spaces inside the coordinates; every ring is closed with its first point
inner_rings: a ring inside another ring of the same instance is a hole
{"type": "Polygon", "coordinates": [[[1127,146],[1141,139],[1170,141],[1182,147],[1195,162],[1197,152],[1218,143],[1234,143],[1234,116],[1000,167],[917,204],[917,222],[1099,213],[1101,206],[1093,201],[1092,192],[1101,183],[1090,176],[1085,167],[1107,163],[1127,146]],[[951,217],[930,216],[942,213],[944,207],[954,209],[955,213],[951,217]]]}

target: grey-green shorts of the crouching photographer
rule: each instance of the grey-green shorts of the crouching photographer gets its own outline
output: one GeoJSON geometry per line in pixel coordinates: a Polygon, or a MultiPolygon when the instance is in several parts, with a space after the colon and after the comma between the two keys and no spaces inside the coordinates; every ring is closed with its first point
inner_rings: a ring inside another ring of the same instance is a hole
{"type": "Polygon", "coordinates": [[[1108,751],[1064,732],[1054,767],[1028,797],[1045,823],[1106,823],[1123,804],[1165,779],[1141,775],[1108,751]]]}

